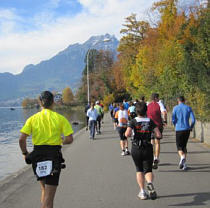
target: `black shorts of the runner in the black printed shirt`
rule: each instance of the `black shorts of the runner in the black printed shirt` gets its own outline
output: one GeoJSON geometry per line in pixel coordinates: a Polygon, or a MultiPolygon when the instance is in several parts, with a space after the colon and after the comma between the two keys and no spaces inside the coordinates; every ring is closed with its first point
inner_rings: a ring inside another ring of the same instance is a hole
{"type": "Polygon", "coordinates": [[[152,172],[153,147],[152,144],[136,146],[132,144],[131,156],[136,166],[136,172],[152,172]]]}

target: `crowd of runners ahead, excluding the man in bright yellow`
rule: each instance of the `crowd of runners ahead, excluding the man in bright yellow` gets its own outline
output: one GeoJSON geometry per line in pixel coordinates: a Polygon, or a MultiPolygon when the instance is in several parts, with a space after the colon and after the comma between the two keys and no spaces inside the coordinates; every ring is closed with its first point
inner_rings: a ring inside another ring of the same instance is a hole
{"type": "MultiPolygon", "coordinates": [[[[179,168],[187,170],[187,142],[190,131],[195,124],[195,116],[191,107],[185,104],[185,98],[177,98],[178,105],[173,109],[172,123],[176,131],[176,146],[180,156],[179,168]],[[191,124],[190,124],[191,119],[191,124]]],[[[90,130],[90,139],[101,134],[101,119],[103,118],[103,105],[99,101],[91,103],[86,108],[87,128],[90,130]],[[88,109],[89,108],[89,109],[88,109]]],[[[160,140],[163,138],[163,129],[167,125],[167,110],[159,99],[158,93],[151,95],[151,101],[140,100],[109,105],[109,112],[113,121],[114,130],[120,137],[121,155],[130,155],[136,166],[136,180],[140,191],[138,197],[142,200],[156,199],[157,193],[153,185],[152,169],[158,169],[160,163],[160,140]],[[131,151],[128,147],[128,137],[131,137],[131,151]],[[145,181],[147,191],[145,191],[145,181]]]]}

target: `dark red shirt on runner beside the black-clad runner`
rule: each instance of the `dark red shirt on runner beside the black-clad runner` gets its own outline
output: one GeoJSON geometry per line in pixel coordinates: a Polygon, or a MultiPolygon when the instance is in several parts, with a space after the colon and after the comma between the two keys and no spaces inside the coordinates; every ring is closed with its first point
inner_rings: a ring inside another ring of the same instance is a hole
{"type": "Polygon", "coordinates": [[[160,105],[157,102],[153,101],[147,106],[147,117],[152,119],[159,128],[163,128],[160,105]]]}

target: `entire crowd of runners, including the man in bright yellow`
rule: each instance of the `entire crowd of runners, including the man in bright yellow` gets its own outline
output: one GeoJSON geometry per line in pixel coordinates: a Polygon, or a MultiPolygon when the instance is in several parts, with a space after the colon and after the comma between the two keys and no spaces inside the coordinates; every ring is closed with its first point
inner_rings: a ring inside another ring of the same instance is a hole
{"type": "MultiPolygon", "coordinates": [[[[192,109],[185,105],[185,98],[180,96],[178,105],[173,109],[172,122],[176,131],[176,145],[180,156],[179,168],[186,170],[187,141],[195,124],[192,109]],[[189,120],[191,119],[191,124],[189,120]]],[[[19,146],[27,164],[32,164],[33,172],[41,185],[41,208],[53,208],[53,201],[59,184],[60,172],[65,168],[62,156],[62,145],[73,142],[73,129],[69,121],[53,111],[54,97],[49,91],[44,91],[39,97],[42,110],[27,119],[20,130],[19,146]],[[27,138],[32,135],[34,149],[27,150],[27,138]]],[[[164,126],[167,125],[167,111],[159,100],[159,95],[153,93],[151,102],[140,101],[110,104],[110,115],[114,130],[120,137],[121,155],[130,155],[136,166],[136,180],[140,191],[138,197],[142,200],[156,199],[157,193],[153,185],[152,169],[157,169],[160,162],[160,140],[164,126]],[[131,151],[128,147],[128,137],[131,137],[131,151]],[[145,191],[145,181],[147,192],[145,191]]],[[[85,108],[87,127],[90,139],[95,134],[101,134],[103,123],[103,105],[96,101],[85,108]]],[[[103,132],[102,132],[103,133],[103,132]]]]}

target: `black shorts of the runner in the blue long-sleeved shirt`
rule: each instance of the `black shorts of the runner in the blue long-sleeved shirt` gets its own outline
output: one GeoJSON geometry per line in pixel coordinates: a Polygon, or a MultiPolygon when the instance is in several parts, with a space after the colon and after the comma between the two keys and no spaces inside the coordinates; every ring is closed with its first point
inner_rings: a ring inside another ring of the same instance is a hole
{"type": "Polygon", "coordinates": [[[190,130],[176,131],[176,147],[178,151],[187,153],[187,142],[190,136],[190,130]]]}

